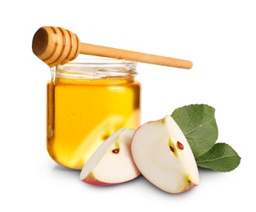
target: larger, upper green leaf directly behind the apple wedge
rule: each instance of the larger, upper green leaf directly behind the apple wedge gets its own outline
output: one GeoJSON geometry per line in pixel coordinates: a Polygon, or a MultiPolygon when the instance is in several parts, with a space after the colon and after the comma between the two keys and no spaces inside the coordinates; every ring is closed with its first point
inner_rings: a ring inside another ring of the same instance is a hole
{"type": "Polygon", "coordinates": [[[195,158],[209,151],[218,139],[215,109],[206,104],[177,108],[171,115],[180,126],[195,158]]]}

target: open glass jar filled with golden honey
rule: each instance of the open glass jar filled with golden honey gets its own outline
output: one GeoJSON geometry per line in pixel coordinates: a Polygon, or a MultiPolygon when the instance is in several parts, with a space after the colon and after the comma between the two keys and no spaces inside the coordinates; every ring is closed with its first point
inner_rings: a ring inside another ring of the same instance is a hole
{"type": "Polygon", "coordinates": [[[140,125],[136,65],[125,60],[74,60],[51,69],[47,151],[54,161],[81,170],[116,130],[140,125]]]}

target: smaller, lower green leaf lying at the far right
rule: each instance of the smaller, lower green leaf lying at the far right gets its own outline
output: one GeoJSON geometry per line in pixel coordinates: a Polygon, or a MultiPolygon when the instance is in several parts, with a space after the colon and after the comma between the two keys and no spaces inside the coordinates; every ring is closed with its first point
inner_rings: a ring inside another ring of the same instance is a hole
{"type": "Polygon", "coordinates": [[[208,152],[196,158],[197,166],[222,172],[235,170],[240,164],[240,157],[228,144],[214,144],[208,152]]]}

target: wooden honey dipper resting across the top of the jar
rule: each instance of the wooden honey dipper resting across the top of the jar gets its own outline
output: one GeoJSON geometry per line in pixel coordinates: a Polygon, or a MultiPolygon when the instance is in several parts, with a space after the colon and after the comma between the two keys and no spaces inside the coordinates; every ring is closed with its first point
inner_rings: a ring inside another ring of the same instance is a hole
{"type": "Polygon", "coordinates": [[[97,55],[147,64],[159,64],[175,68],[191,68],[193,65],[189,60],[179,60],[165,56],[83,43],[79,41],[79,37],[76,34],[61,27],[45,26],[38,29],[34,33],[32,49],[34,54],[50,67],[74,60],[79,54],[97,55]]]}

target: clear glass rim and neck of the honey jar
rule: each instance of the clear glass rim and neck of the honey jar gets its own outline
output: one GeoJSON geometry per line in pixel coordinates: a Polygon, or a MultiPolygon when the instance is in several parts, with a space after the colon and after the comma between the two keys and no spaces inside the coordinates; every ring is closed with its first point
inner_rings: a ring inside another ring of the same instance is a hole
{"type": "Polygon", "coordinates": [[[56,78],[101,79],[135,77],[137,62],[114,59],[76,59],[56,67],[56,78]]]}

